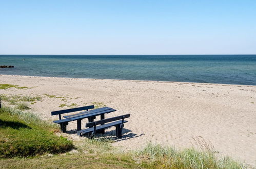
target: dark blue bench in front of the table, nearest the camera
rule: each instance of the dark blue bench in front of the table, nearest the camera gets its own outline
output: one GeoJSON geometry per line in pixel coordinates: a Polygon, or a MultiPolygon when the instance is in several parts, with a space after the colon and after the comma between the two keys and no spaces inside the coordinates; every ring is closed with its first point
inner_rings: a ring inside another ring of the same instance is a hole
{"type": "Polygon", "coordinates": [[[88,129],[84,129],[81,131],[77,131],[77,135],[87,135],[92,138],[95,136],[96,132],[102,131],[103,129],[108,129],[111,126],[115,126],[116,137],[122,137],[122,130],[124,128],[124,123],[128,122],[124,120],[125,118],[129,118],[130,114],[125,114],[122,116],[116,116],[111,118],[106,118],[99,121],[93,121],[86,123],[85,127],[88,129]]]}

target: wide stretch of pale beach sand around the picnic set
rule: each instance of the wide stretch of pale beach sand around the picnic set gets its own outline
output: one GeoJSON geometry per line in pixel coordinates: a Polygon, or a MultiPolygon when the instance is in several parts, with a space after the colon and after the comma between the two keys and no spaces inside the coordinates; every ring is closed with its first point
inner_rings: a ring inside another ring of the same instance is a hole
{"type": "MultiPolygon", "coordinates": [[[[31,108],[47,120],[57,119],[51,111],[67,108],[60,108],[62,103],[78,107],[103,102],[117,110],[106,117],[130,113],[124,137],[113,143],[123,149],[149,141],[190,147],[205,140],[220,155],[256,164],[256,86],[16,75],[0,75],[0,83],[32,87],[2,89],[0,94],[43,96],[31,108]],[[68,97],[67,102],[44,94],[68,97]]],[[[76,122],[68,125],[68,130],[75,128],[76,122]]],[[[108,131],[114,133],[114,128],[108,131]]]]}

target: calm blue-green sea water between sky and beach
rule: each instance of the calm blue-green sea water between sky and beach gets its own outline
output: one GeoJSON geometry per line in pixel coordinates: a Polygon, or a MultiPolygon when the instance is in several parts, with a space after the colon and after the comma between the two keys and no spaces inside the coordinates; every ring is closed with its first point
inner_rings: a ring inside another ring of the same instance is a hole
{"type": "Polygon", "coordinates": [[[256,85],[256,55],[0,55],[0,74],[256,85]]]}

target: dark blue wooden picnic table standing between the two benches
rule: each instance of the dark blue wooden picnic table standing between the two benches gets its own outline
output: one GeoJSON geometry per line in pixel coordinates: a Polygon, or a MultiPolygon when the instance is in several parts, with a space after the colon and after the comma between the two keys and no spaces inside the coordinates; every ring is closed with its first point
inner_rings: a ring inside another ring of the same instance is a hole
{"type": "MultiPolygon", "coordinates": [[[[88,118],[89,122],[92,122],[93,119],[95,119],[96,116],[101,116],[101,120],[105,119],[105,114],[106,113],[111,113],[116,110],[109,108],[109,107],[104,107],[104,108],[99,108],[99,109],[93,109],[90,111],[84,111],[81,113],[76,113],[68,116],[63,116],[66,119],[69,119],[71,121],[77,121],[77,131],[81,130],[81,120],[84,118],[88,118]]],[[[105,130],[103,129],[101,133],[104,134],[105,130]]]]}

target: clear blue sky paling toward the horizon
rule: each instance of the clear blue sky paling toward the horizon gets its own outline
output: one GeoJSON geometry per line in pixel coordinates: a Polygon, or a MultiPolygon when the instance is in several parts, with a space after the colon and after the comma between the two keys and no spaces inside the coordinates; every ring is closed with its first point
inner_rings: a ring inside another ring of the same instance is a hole
{"type": "Polygon", "coordinates": [[[256,54],[256,1],[0,0],[0,54],[256,54]]]}

